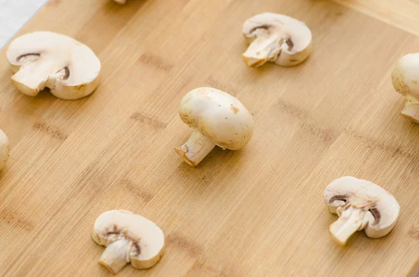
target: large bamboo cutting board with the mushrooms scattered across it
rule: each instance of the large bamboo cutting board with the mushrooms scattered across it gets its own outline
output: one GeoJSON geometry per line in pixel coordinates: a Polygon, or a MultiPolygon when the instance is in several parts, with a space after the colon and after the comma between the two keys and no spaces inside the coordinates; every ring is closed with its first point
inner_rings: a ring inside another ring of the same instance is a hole
{"type": "Polygon", "coordinates": [[[64,33],[102,61],[82,100],[24,96],[0,51],[0,276],[111,276],[91,239],[96,217],[129,209],[166,234],[156,266],[118,276],[406,276],[419,257],[419,125],[399,116],[395,61],[419,38],[330,1],[50,1],[20,31],[64,33]],[[304,20],[313,53],[295,68],[247,68],[244,20],[304,20]],[[177,106],[211,86],[253,112],[242,151],[214,149],[197,168],[173,151],[191,134],[177,106]],[[352,175],[402,207],[383,239],[337,246],[323,202],[352,175]]]}

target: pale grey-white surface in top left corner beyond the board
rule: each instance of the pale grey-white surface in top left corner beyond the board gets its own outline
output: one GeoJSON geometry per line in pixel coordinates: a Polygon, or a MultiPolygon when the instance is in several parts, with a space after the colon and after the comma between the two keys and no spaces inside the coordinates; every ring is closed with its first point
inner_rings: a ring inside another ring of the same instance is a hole
{"type": "Polygon", "coordinates": [[[0,49],[47,0],[0,0],[0,49]]]}

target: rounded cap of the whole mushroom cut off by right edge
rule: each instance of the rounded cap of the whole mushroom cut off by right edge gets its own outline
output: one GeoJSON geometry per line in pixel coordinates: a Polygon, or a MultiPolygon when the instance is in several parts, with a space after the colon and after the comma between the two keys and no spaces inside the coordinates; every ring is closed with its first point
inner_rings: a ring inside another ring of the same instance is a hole
{"type": "Polygon", "coordinates": [[[419,53],[406,54],[392,71],[392,84],[404,96],[419,99],[419,53]]]}

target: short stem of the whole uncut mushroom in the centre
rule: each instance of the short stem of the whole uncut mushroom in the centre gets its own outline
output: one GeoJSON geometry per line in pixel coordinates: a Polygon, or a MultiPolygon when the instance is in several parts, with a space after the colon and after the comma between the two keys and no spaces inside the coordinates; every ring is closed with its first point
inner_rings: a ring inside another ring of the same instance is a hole
{"type": "Polygon", "coordinates": [[[204,137],[200,130],[195,129],[189,140],[181,147],[175,148],[175,151],[184,158],[186,163],[196,167],[211,152],[215,145],[214,142],[204,137]]]}

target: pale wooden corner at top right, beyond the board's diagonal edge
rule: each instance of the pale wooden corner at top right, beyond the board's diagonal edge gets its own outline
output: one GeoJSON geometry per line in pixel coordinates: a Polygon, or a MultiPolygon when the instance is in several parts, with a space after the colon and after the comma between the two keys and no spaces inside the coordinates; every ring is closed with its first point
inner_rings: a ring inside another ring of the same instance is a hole
{"type": "Polygon", "coordinates": [[[419,0],[333,0],[419,36],[419,0]]]}

